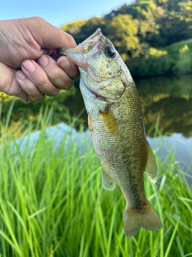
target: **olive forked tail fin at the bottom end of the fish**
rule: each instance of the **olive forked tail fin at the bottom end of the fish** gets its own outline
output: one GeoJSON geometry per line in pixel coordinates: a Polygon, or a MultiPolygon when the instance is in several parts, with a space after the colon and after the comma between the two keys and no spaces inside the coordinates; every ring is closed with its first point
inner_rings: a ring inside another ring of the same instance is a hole
{"type": "Polygon", "coordinates": [[[150,231],[162,229],[160,218],[147,200],[141,210],[130,208],[126,205],[124,212],[124,232],[127,237],[131,237],[143,227],[150,231]]]}

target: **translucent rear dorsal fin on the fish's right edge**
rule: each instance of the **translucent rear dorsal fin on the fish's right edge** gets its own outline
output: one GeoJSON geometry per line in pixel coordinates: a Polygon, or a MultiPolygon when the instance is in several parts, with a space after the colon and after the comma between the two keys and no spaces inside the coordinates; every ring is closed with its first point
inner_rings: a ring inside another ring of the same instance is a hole
{"type": "Polygon", "coordinates": [[[147,176],[147,178],[150,179],[150,181],[155,184],[158,176],[158,167],[157,167],[154,153],[150,145],[148,144],[148,142],[147,142],[147,156],[148,158],[147,158],[147,163],[146,163],[144,173],[147,176]]]}

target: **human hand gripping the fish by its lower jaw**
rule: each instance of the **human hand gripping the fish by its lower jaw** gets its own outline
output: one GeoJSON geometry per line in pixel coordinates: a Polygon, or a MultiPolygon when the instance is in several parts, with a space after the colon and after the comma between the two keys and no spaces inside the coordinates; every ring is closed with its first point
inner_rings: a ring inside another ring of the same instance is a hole
{"type": "Polygon", "coordinates": [[[40,17],[0,21],[0,91],[29,103],[70,89],[79,70],[57,56],[61,47],[76,43],[40,17]]]}

